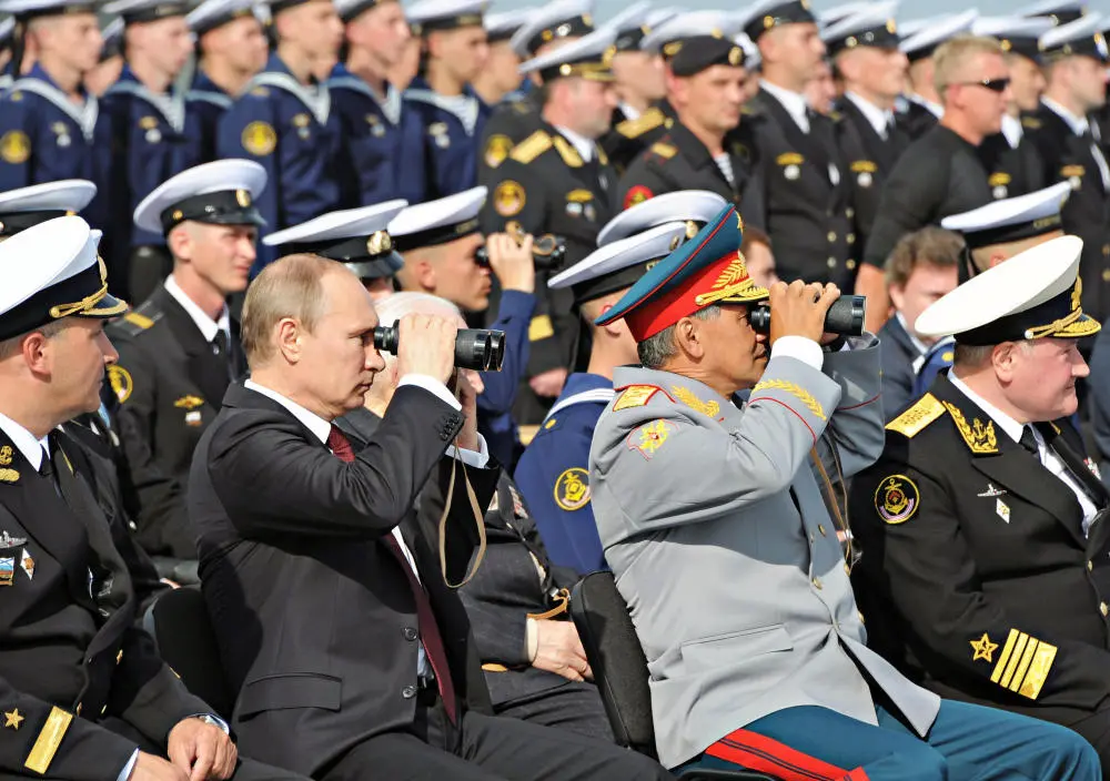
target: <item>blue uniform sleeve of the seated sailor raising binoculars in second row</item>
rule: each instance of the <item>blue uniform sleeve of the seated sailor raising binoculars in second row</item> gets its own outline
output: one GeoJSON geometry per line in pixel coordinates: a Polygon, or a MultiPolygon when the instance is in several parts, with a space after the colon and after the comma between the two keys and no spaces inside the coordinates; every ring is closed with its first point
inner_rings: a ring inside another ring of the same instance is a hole
{"type": "Polygon", "coordinates": [[[511,468],[516,460],[516,422],[513,403],[528,365],[531,345],[528,325],[536,310],[536,297],[522,291],[503,291],[497,320],[490,325],[505,332],[505,358],[501,372],[483,372],[485,390],[478,396],[478,430],[486,439],[490,454],[511,468]]]}

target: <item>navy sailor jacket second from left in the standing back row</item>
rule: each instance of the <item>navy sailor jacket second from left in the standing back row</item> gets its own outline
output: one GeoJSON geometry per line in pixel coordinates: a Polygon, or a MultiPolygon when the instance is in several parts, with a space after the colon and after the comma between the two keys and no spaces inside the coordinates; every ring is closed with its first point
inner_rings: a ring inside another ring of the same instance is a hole
{"type": "Polygon", "coordinates": [[[201,154],[200,118],[185,93],[171,89],[154,94],[123,67],[119,81],[101,101],[99,122],[111,136],[111,170],[107,175],[111,224],[107,229],[117,256],[132,246],[164,245],[161,233],[134,227],[131,215],[162,182],[205,162],[201,154]]]}

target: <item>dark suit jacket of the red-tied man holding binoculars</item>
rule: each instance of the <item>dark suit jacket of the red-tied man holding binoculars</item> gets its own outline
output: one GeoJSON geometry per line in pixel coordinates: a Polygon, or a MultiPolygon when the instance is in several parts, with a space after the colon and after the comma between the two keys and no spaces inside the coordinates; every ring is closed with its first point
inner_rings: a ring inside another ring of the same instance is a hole
{"type": "MultiPolygon", "coordinates": [[[[455,692],[490,699],[465,611],[440,572],[436,525],[463,416],[397,389],[372,442],[346,464],[276,402],[232,385],[196,448],[189,510],[229,682],[240,751],[305,775],[373,736],[412,726],[417,619],[408,576],[383,536],[401,524],[435,610],[455,692]],[[421,511],[413,507],[424,490],[421,511]]],[[[456,467],[461,469],[461,466],[456,467]]],[[[466,468],[480,506],[498,469],[466,468]]],[[[447,577],[476,544],[462,474],[447,520],[447,577]]]]}

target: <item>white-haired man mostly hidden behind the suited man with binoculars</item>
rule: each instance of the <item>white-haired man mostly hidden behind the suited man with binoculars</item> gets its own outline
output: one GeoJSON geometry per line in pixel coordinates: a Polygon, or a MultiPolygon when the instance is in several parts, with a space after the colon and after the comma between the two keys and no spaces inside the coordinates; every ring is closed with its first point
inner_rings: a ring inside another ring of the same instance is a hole
{"type": "MultiPolygon", "coordinates": [[[[466,327],[454,304],[423,293],[397,293],[376,308],[386,323],[416,313],[447,317],[466,327]]],[[[385,356],[385,365],[366,394],[365,406],[336,422],[363,442],[374,440],[396,392],[396,358],[385,356]]],[[[467,377],[481,394],[482,375],[467,372],[467,377]]],[[[552,564],[531,508],[504,469],[484,520],[486,556],[460,595],[494,712],[609,738],[602,699],[566,610],[578,574],[552,564]]]]}

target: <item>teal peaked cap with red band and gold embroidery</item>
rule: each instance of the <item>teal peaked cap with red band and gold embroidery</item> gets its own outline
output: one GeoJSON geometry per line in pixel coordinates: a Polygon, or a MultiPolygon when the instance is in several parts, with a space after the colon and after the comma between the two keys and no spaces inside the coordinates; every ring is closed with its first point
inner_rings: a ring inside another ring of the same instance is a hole
{"type": "Polygon", "coordinates": [[[642,276],[596,324],[624,317],[633,338],[643,342],[713,304],[764,301],[767,290],[751,281],[740,254],[743,230],[736,207],[726,206],[642,276]]]}

